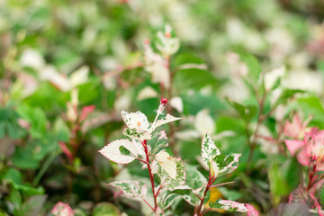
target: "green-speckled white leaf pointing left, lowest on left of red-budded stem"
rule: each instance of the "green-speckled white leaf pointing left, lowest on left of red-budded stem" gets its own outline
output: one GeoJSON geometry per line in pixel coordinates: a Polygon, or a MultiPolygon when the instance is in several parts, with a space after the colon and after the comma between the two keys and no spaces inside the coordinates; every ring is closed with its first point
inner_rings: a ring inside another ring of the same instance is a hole
{"type": "Polygon", "coordinates": [[[147,186],[144,183],[138,181],[116,181],[110,183],[114,187],[121,189],[122,193],[132,198],[144,198],[148,192],[147,186]]]}

